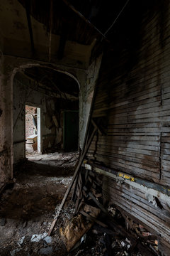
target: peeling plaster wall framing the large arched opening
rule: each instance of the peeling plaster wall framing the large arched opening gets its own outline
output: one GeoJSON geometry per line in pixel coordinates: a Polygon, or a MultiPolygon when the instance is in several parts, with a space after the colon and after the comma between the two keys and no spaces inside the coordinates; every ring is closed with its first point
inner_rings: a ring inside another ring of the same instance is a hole
{"type": "MultiPolygon", "coordinates": [[[[99,60],[98,60],[99,61],[99,60]]],[[[99,61],[100,62],[100,61],[99,61]]],[[[31,60],[26,58],[16,58],[9,55],[1,55],[0,58],[0,183],[5,183],[13,177],[13,78],[18,71],[30,68],[33,66],[40,66],[53,68],[57,71],[66,73],[77,80],[79,84],[79,144],[82,146],[84,142],[85,127],[87,124],[87,116],[89,108],[86,108],[87,99],[86,88],[87,71],[80,68],[73,68],[69,66],[45,63],[38,60],[31,60]],[[84,120],[83,120],[84,119],[84,120]],[[83,124],[82,124],[83,122],[83,124]]],[[[99,64],[98,64],[99,66],[99,64]]],[[[97,77],[97,75],[96,75],[97,77]]],[[[91,82],[94,78],[91,78],[91,82]]],[[[95,83],[95,82],[94,82],[95,83]]],[[[92,83],[93,84],[93,83],[92,83]]],[[[22,85],[23,86],[23,85],[22,85]]],[[[18,94],[18,92],[17,92],[18,94]]],[[[90,95],[88,90],[88,95],[90,95]]],[[[21,96],[20,96],[21,97],[21,96]]],[[[25,95],[26,97],[26,95],[25,95]]],[[[32,92],[32,102],[36,105],[45,106],[42,102],[44,99],[36,97],[32,92]],[[35,101],[34,101],[35,100],[35,101]]],[[[21,107],[21,105],[20,105],[21,107]]],[[[42,111],[41,111],[42,112],[42,111]]],[[[45,128],[46,130],[47,128],[45,128]]],[[[47,130],[48,131],[48,130],[47,130]]],[[[23,137],[22,137],[23,138],[23,137]]],[[[21,139],[22,139],[21,138],[21,139]]],[[[20,137],[18,137],[20,139],[20,137]]],[[[19,155],[21,154],[21,151],[19,155]]],[[[23,154],[22,154],[23,156],[23,154]]]]}

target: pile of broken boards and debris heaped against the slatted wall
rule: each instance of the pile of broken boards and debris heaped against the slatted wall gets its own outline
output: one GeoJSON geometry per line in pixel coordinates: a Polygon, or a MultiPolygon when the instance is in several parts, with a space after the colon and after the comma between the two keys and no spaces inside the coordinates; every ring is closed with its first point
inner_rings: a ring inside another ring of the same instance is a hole
{"type": "Polygon", "coordinates": [[[102,245],[99,243],[99,247],[102,250],[96,251],[98,242],[101,241],[99,239],[93,243],[93,252],[92,248],[89,252],[88,242],[87,246],[85,242],[84,246],[88,250],[81,245],[76,255],[159,255],[157,237],[115,206],[107,207],[102,196],[102,176],[94,174],[92,170],[81,169],[75,188],[73,198],[77,215],[65,223],[64,229],[60,229],[67,251],[72,252],[73,248],[77,248],[78,238],[81,245],[86,234],[87,241],[89,236],[92,240],[94,235],[101,237],[103,242],[102,245]]]}

